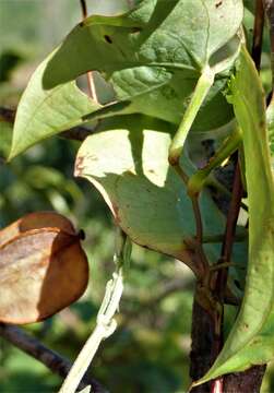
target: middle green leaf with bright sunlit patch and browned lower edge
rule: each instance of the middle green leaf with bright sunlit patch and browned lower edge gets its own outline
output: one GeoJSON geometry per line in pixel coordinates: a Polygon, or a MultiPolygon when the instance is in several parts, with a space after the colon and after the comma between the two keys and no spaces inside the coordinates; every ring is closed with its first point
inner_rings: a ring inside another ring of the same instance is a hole
{"type": "MultiPolygon", "coordinates": [[[[75,175],[103,194],[117,224],[142,246],[174,255],[194,271],[188,240],[195,235],[186,187],[168,165],[170,126],[142,116],[124,116],[106,124],[109,131],[88,136],[76,158],[75,175]]],[[[193,172],[187,157],[181,160],[193,172]]],[[[204,234],[224,230],[224,217],[211,196],[201,196],[204,234]],[[214,216],[214,221],[212,217],[214,216]]]]}

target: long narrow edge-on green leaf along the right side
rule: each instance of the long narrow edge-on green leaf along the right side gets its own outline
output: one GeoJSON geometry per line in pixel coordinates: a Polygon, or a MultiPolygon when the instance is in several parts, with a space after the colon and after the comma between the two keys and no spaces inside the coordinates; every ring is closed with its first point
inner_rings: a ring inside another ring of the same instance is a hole
{"type": "Polygon", "coordinates": [[[249,204],[248,275],[236,323],[217,360],[199,383],[265,364],[274,357],[274,182],[265,97],[245,48],[231,82],[231,100],[243,131],[249,204]]]}

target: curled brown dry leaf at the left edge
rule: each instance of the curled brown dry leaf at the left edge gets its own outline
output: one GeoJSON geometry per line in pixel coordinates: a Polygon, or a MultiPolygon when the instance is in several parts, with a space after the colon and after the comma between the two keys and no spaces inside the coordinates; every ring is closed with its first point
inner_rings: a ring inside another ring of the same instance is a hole
{"type": "Polygon", "coordinates": [[[0,321],[50,317],[75,301],[87,281],[86,255],[65,217],[32,213],[0,231],[0,321]]]}

